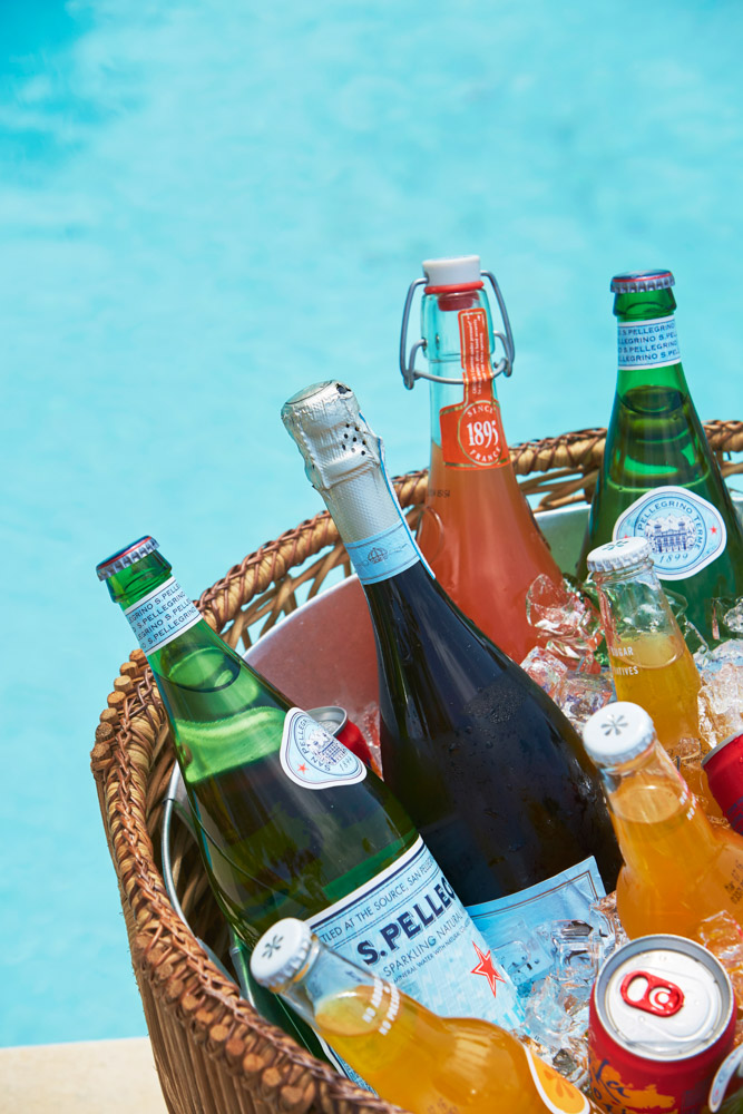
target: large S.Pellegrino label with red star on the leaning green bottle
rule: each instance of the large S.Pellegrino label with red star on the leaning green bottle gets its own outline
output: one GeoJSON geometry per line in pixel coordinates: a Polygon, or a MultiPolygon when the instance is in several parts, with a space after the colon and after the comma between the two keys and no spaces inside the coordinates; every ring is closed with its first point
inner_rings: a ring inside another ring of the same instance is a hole
{"type": "Polygon", "coordinates": [[[443,1017],[519,1028],[516,988],[422,839],[369,882],[307,918],[323,944],[443,1017]]]}

